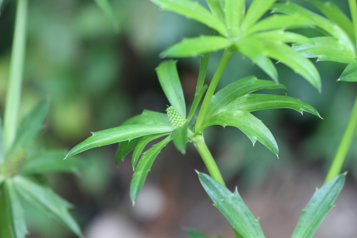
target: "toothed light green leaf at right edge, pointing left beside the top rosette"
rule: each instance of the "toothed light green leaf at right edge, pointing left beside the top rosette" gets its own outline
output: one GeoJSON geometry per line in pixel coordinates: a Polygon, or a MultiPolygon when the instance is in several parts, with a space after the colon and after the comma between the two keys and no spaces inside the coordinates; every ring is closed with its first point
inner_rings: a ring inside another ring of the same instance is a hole
{"type": "Polygon", "coordinates": [[[306,58],[317,57],[319,61],[330,60],[347,64],[354,61],[353,52],[335,37],[323,36],[310,39],[310,43],[293,44],[292,49],[306,58]]]}

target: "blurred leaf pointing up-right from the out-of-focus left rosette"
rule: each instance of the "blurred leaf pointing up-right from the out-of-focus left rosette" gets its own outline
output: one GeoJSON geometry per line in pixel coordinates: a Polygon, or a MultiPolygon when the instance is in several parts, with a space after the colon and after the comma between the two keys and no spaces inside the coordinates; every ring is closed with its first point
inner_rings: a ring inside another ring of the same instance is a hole
{"type": "Polygon", "coordinates": [[[48,107],[47,100],[43,100],[24,117],[17,131],[14,144],[11,146],[10,154],[19,149],[24,149],[42,130],[48,107]]]}

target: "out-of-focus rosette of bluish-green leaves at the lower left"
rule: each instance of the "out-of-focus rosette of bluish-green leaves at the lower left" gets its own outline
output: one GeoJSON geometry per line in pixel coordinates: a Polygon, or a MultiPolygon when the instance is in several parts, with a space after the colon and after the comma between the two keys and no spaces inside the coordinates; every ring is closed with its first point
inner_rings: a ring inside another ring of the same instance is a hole
{"type": "Polygon", "coordinates": [[[68,209],[71,204],[39,183],[44,173],[77,173],[82,161],[74,158],[64,162],[64,151],[34,151],[33,140],[42,130],[48,103],[42,101],[24,117],[17,135],[5,151],[0,121],[0,236],[4,238],[25,238],[27,228],[21,200],[27,200],[47,216],[56,219],[77,236],[81,230],[68,209]]]}

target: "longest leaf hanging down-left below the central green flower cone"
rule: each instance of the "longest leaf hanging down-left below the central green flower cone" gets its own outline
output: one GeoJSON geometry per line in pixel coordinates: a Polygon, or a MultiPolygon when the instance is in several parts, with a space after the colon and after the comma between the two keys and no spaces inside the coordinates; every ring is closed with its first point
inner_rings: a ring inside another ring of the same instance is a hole
{"type": "Polygon", "coordinates": [[[139,196],[141,188],[144,185],[146,176],[151,169],[152,163],[154,163],[155,158],[157,155],[159,155],[162,148],[164,148],[170,141],[171,136],[166,137],[164,140],[160,141],[155,146],[145,151],[145,153],[141,156],[130,183],[130,198],[133,202],[133,205],[135,204],[136,198],[139,196]]]}

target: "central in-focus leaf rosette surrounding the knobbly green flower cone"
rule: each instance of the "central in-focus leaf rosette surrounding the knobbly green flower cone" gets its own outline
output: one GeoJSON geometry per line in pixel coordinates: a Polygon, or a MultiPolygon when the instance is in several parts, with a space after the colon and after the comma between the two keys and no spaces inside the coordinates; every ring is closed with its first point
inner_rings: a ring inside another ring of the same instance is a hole
{"type": "MultiPolygon", "coordinates": [[[[203,57],[204,58],[204,57],[203,57]]],[[[204,60],[203,60],[204,61],[204,60]]],[[[204,67],[203,67],[204,68],[204,67]]],[[[202,68],[201,68],[202,69],[202,68]]],[[[198,102],[207,87],[202,86],[202,77],[199,77],[197,93],[186,117],[186,105],[183,91],[176,69],[176,61],[162,62],[156,68],[160,85],[170,103],[167,113],[144,110],[142,114],[134,116],[122,123],[121,126],[94,132],[92,136],[72,148],[67,156],[75,155],[93,147],[112,143],[119,143],[116,152],[118,163],[130,151],[134,176],[130,186],[130,197],[135,203],[137,196],[145,182],[151,166],[160,151],[173,140],[178,151],[185,153],[187,143],[195,141],[194,125],[189,122],[196,111],[198,102]],[[161,139],[160,142],[142,151],[150,141],[161,139]],[[141,156],[141,157],[140,157],[141,156]]],[[[201,73],[201,72],[200,72],[201,73]]],[[[204,78],[203,78],[204,80],[204,78]]],[[[252,94],[262,88],[275,89],[285,87],[273,81],[258,80],[250,76],[238,80],[218,91],[210,103],[210,110],[206,113],[201,131],[211,125],[233,126],[244,132],[255,143],[260,141],[276,155],[278,147],[269,129],[250,112],[268,108],[292,108],[299,112],[307,111],[319,116],[312,106],[300,100],[287,96],[252,94]]],[[[198,132],[198,135],[200,132],[198,132]]]]}

